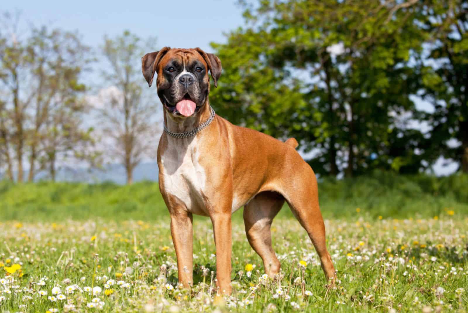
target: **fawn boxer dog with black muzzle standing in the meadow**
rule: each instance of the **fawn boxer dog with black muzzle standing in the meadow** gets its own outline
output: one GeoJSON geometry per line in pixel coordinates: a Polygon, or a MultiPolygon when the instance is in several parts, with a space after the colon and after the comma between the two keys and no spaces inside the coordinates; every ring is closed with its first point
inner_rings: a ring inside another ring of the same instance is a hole
{"type": "Polygon", "coordinates": [[[247,239],[266,274],[280,263],[271,246],[271,222],[286,201],[314,244],[325,276],[335,268],[325,245],[314,171],[296,151],[294,138],[281,142],[235,126],[210,106],[210,77],[217,87],[221,61],[200,48],[147,53],[141,60],[164,107],[158,147],[159,188],[171,217],[179,282],[193,283],[192,215],[209,216],[216,245],[218,291],[231,294],[231,215],[244,207],[247,239]]]}

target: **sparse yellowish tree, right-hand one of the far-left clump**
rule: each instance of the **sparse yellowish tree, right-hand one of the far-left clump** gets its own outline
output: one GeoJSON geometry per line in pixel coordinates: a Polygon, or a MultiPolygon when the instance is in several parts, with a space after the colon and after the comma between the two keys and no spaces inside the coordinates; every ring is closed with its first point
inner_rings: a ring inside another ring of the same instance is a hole
{"type": "Polygon", "coordinates": [[[36,90],[28,136],[29,181],[36,173],[37,160],[39,168],[48,168],[55,179],[58,157],[84,155],[76,147],[82,150],[82,144],[93,144],[89,136],[92,128],[83,130],[80,125],[82,114],[88,110],[80,99],[86,90],[80,76],[91,61],[90,49],[81,43],[79,34],[50,31],[45,26],[32,31],[29,46],[36,90]]]}

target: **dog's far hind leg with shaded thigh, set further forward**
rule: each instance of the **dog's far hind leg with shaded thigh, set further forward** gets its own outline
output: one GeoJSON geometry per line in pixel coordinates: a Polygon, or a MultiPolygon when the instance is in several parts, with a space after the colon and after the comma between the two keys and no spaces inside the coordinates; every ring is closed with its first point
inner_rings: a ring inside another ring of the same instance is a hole
{"type": "Polygon", "coordinates": [[[283,206],[281,194],[262,192],[244,206],[244,224],[250,246],[260,255],[265,272],[273,278],[281,264],[271,246],[271,222],[283,206]]]}

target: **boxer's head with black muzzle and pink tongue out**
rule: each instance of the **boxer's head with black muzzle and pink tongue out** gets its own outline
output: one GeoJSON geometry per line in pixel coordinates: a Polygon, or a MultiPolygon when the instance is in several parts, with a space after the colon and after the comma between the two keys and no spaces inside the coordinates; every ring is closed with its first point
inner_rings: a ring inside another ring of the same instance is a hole
{"type": "Polygon", "coordinates": [[[141,58],[141,70],[148,86],[153,84],[154,74],[158,96],[164,109],[173,118],[196,114],[205,105],[210,92],[210,77],[214,86],[221,75],[221,61],[212,53],[200,48],[171,49],[146,53],[141,58]]]}

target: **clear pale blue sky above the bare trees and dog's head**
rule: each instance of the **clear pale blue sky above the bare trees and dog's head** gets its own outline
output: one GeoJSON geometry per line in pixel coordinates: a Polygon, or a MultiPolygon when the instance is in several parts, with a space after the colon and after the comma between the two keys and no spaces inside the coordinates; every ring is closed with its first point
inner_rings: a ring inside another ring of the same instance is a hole
{"type": "Polygon", "coordinates": [[[79,30],[84,42],[95,47],[102,44],[104,35],[114,37],[130,30],[142,38],[157,37],[158,47],[199,46],[211,52],[210,42],[224,42],[223,32],[243,23],[236,0],[2,2],[2,10],[19,10],[22,19],[35,26],[79,30]]]}

